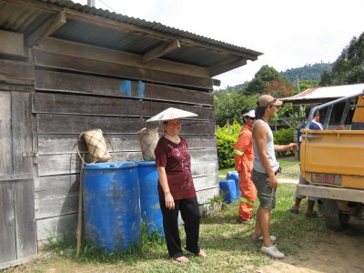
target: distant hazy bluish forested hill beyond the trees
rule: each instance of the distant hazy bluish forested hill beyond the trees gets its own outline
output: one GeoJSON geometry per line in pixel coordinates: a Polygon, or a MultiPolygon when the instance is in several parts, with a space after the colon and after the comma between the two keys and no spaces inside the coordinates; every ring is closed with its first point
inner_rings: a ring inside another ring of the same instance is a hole
{"type": "Polygon", "coordinates": [[[306,65],[298,68],[291,68],[284,72],[280,72],[282,76],[285,76],[291,83],[296,83],[298,80],[320,80],[320,75],[323,71],[331,71],[332,64],[314,64],[306,65]]]}

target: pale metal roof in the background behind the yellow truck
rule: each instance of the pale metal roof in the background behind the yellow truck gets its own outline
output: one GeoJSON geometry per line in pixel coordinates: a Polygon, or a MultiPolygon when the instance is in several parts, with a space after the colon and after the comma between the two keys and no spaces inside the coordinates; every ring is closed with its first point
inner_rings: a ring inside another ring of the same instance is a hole
{"type": "Polygon", "coordinates": [[[327,86],[308,88],[305,91],[291,97],[286,97],[284,101],[312,100],[312,99],[334,99],[343,96],[351,96],[364,91],[364,84],[348,86],[327,86]]]}

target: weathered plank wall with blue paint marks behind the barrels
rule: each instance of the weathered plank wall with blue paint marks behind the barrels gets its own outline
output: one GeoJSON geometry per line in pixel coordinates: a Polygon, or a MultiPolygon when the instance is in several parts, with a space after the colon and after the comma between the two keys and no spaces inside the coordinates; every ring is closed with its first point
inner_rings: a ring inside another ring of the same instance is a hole
{"type": "MultiPolygon", "coordinates": [[[[81,166],[76,145],[78,135],[92,128],[106,132],[115,160],[139,161],[136,131],[147,126],[149,116],[169,106],[197,113],[197,119],[184,121],[182,135],[191,152],[198,202],[218,194],[213,97],[208,92],[212,80],[198,67],[167,61],[142,66],[130,54],[52,38],[35,46],[33,56],[39,246],[46,238],[75,231],[81,166]]],[[[79,148],[86,152],[82,142],[79,148]]]]}

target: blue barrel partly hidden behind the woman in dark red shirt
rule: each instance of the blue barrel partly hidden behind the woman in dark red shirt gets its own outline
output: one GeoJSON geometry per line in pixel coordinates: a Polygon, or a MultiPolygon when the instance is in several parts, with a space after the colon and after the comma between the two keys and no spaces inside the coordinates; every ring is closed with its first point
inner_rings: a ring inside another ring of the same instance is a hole
{"type": "Polygon", "coordinates": [[[147,233],[164,236],[163,216],[158,197],[158,171],[156,161],[137,161],[140,187],[140,211],[142,220],[147,224],[147,233]]]}

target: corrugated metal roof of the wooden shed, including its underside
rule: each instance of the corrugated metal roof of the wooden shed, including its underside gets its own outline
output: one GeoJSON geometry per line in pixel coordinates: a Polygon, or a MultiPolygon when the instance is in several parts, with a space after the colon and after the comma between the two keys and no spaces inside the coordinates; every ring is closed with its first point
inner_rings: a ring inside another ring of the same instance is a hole
{"type": "Polygon", "coordinates": [[[211,76],[242,66],[247,60],[257,60],[262,55],[242,46],[68,0],[2,1],[0,29],[22,33],[27,37],[61,10],[66,11],[66,24],[51,37],[141,56],[158,45],[178,40],[180,48],[160,58],[205,67],[211,71],[211,76]],[[118,23],[123,27],[117,27],[118,23]],[[128,29],[127,25],[131,27],[128,29]]]}

